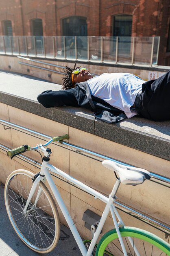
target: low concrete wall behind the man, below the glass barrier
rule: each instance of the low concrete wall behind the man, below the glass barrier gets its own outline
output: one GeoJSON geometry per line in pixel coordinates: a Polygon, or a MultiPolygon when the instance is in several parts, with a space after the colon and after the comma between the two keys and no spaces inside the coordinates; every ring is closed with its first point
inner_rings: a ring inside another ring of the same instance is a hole
{"type": "MultiPolygon", "coordinates": [[[[49,61],[49,60],[42,60],[42,59],[36,59],[40,62],[46,62],[53,65],[59,65],[62,67],[70,66],[73,67],[74,61],[68,62],[68,61],[49,61]]],[[[78,63],[78,65],[81,65],[81,67],[87,67],[88,70],[94,74],[103,74],[103,73],[118,73],[118,72],[124,72],[124,73],[132,73],[136,76],[141,77],[145,81],[151,80],[151,79],[157,79],[159,76],[165,74],[168,69],[162,69],[157,67],[137,67],[132,65],[102,65],[102,64],[87,64],[87,63],[78,63]]],[[[62,84],[62,76],[63,74],[57,74],[52,71],[42,70],[38,67],[47,68],[50,70],[58,71],[58,72],[64,72],[64,69],[60,67],[53,67],[48,64],[43,63],[35,63],[33,61],[27,61],[21,58],[17,58],[15,56],[4,56],[0,55],[0,69],[1,70],[7,70],[12,72],[17,72],[21,74],[28,74],[31,76],[39,77],[41,79],[45,79],[47,81],[50,81],[52,83],[58,83],[62,84]],[[37,67],[31,67],[27,65],[20,64],[18,62],[23,62],[26,64],[36,65],[37,67]],[[9,68],[10,66],[10,68],[9,68]],[[29,69],[29,72],[27,71],[29,69]],[[51,76],[48,77],[48,74],[51,76]]]]}

